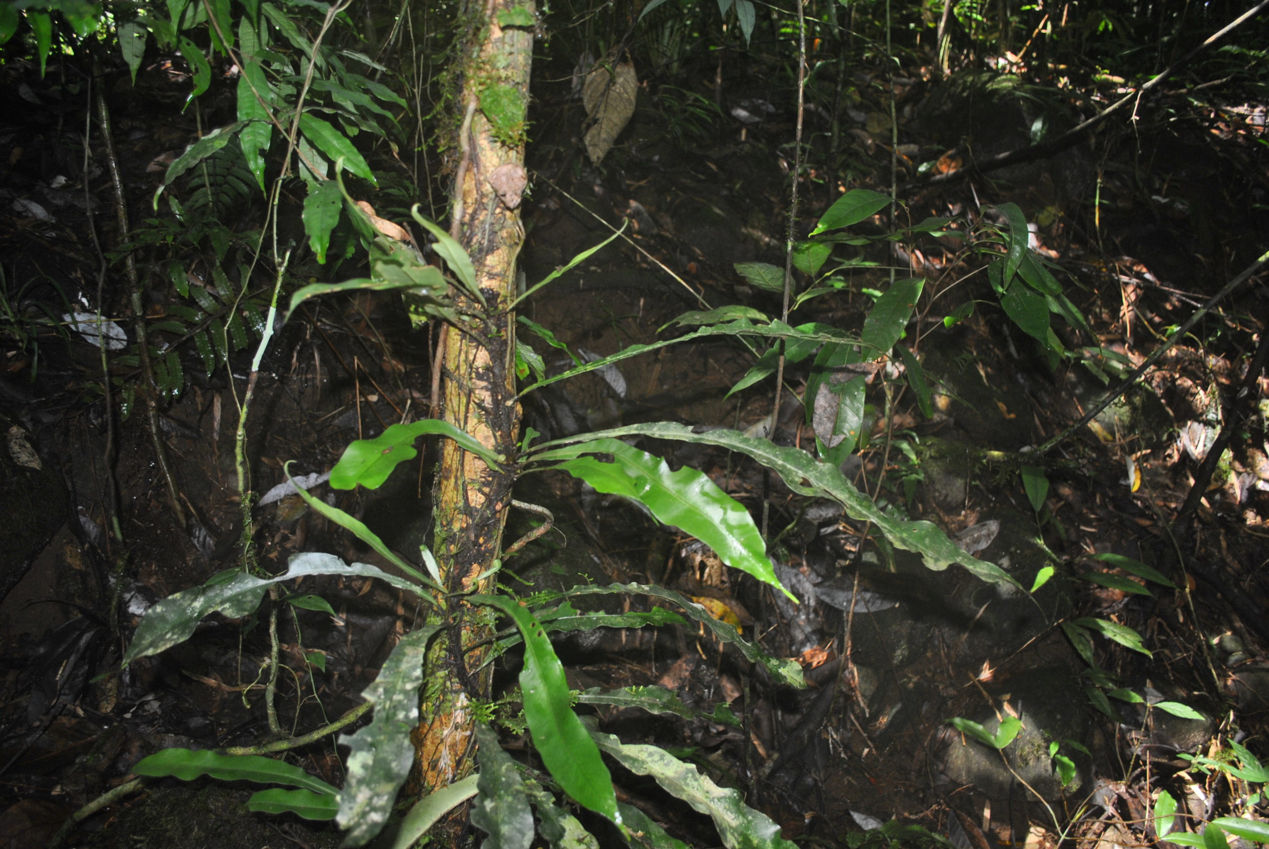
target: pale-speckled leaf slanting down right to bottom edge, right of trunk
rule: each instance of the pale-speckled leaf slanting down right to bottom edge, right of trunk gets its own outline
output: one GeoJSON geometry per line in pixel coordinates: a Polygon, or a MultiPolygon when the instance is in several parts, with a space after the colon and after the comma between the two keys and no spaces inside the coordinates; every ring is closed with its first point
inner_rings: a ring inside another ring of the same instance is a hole
{"type": "Polygon", "coordinates": [[[745,805],[739,791],[718,787],[693,764],[685,764],[665,749],[627,745],[610,734],[593,731],[599,747],[637,775],[651,775],[671,796],[713,820],[728,849],[796,849],[780,838],[780,826],[761,811],[745,805]]]}

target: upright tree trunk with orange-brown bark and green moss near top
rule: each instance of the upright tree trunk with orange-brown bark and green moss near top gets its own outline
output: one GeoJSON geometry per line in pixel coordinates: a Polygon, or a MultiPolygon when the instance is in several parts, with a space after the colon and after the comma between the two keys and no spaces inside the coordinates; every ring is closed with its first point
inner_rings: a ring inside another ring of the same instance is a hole
{"type": "MultiPolygon", "coordinates": [[[[520,16],[514,18],[510,10],[532,11],[532,6],[523,0],[470,0],[466,6],[461,20],[470,39],[456,98],[463,122],[456,147],[462,159],[456,171],[450,232],[472,259],[489,311],[456,296],[472,315],[482,317],[468,329],[444,329],[443,411],[434,415],[511,459],[520,410],[515,401],[515,317],[510,305],[516,292],[515,259],[524,239],[519,199],[524,188],[524,107],[533,30],[532,23],[513,25],[524,23],[524,15],[518,11],[520,16]],[[499,23],[500,13],[505,25],[499,23]]],[[[492,577],[477,577],[499,553],[511,480],[509,470],[491,468],[454,442],[442,440],[434,490],[434,551],[449,591],[489,589],[492,577]]],[[[487,614],[483,619],[481,615],[464,604],[452,604],[445,631],[429,652],[421,723],[414,735],[415,794],[472,772],[472,699],[487,698],[490,681],[490,669],[483,664],[487,650],[468,652],[489,633],[487,614]]]]}

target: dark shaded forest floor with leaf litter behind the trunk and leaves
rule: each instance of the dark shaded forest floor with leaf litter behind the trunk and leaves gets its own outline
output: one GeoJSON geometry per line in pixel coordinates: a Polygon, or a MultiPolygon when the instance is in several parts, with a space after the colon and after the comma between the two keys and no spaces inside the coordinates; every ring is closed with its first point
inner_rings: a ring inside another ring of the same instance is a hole
{"type": "MultiPolygon", "coordinates": [[[[5,74],[4,98],[29,102],[29,94],[56,105],[0,109],[8,302],[29,306],[19,292],[28,279],[91,291],[99,261],[85,211],[93,211],[107,244],[113,236],[98,152],[81,159],[76,141],[81,104],[67,86],[41,82],[14,66],[5,74]],[[18,199],[38,202],[44,216],[18,199]]],[[[115,133],[135,220],[146,217],[164,164],[194,132],[192,117],[171,118],[174,112],[156,105],[178,96],[171,74],[156,66],[142,72],[135,93],[115,91],[115,133]]],[[[838,197],[839,181],[888,189],[888,107],[879,82],[858,80],[859,90],[872,94],[851,104],[858,118],[849,128],[851,155],[810,164],[801,232],[838,197]]],[[[567,81],[556,85],[561,91],[542,84],[539,100],[565,103],[567,81]]],[[[528,282],[607,239],[623,218],[629,225],[628,239],[533,296],[524,308],[528,319],[589,358],[673,332],[665,325],[690,310],[744,305],[779,315],[779,296],[749,286],[733,268],[745,261],[783,268],[794,115],[789,103],[769,104],[766,113],[761,86],[753,88],[737,85],[728,103],[745,103],[761,119],[741,123],[720,114],[704,127],[673,112],[667,100],[641,95],[633,123],[602,169],[585,164],[579,150],[580,107],[543,107],[528,162],[528,282]]],[[[1018,86],[986,76],[942,84],[914,76],[900,80],[897,91],[900,184],[915,184],[919,162],[938,161],[966,135],[977,140],[978,156],[1025,145],[1034,121],[1018,86]]],[[[1255,336],[1264,334],[1263,286],[1253,282],[1217,305],[1122,401],[1060,447],[1061,463],[1049,470],[1039,511],[1016,470],[992,453],[1024,451],[1061,433],[1119,382],[1117,364],[1123,373],[1141,363],[1170,327],[1265,249],[1263,107],[1256,112],[1183,94],[1155,102],[1160,110],[1162,104],[1184,119],[1150,113],[1138,132],[1108,127],[1052,159],[938,188],[914,185],[898,211],[898,223],[906,225],[926,216],[977,220],[995,214],[996,204],[1016,203],[1036,222],[1033,247],[1066,272],[1063,286],[1096,332],[1096,339],[1071,332],[1067,345],[1108,352],[1108,383],[1080,365],[1051,368],[999,308],[982,301],[990,288],[981,259],[966,256],[950,237],[905,242],[892,253],[887,242],[843,251],[841,259],[855,260],[841,273],[848,286],[791,319],[857,331],[872,303],[865,291],[883,289],[891,265],[901,265],[900,277],[926,278],[931,294],[909,338],[934,386],[934,415],[923,416],[911,393],[887,397],[873,390],[868,445],[844,471],[911,518],[958,536],[1024,586],[1043,570],[1053,577],[1027,596],[1001,593],[959,567],[933,572],[879,546],[840,509],[791,494],[739,457],[641,443],[674,466],[706,471],[754,515],[769,503],[772,553],[802,602],[794,607],[747,577],[728,575],[712,552],[622,501],[563,475],[525,478],[516,497],[551,509],[556,528],[509,562],[515,579],[506,582],[537,589],[610,580],[664,584],[717,603],[765,651],[797,657],[810,681],[806,690],[780,687],[703,632],[679,626],[562,637],[557,651],[575,689],[660,684],[707,713],[727,703],[741,717],[732,727],[634,708],[598,709],[605,730],[670,747],[717,782],[744,789],[786,838],[822,845],[857,846],[863,838],[849,834],[890,820],[923,826],[958,849],[1032,849],[1063,839],[1088,849],[1145,845],[1157,838],[1148,812],[1162,789],[1180,800],[1181,830],[1213,812],[1263,811],[1247,803],[1239,779],[1204,773],[1179,756],[1220,759],[1230,740],[1269,753],[1263,617],[1269,609],[1269,410],[1263,401],[1269,385],[1253,374],[1240,392],[1255,336]],[[975,301],[970,317],[945,326],[944,316],[975,301]],[[1225,425],[1236,433],[1206,480],[1202,461],[1225,425]],[[1195,480],[1203,500],[1178,523],[1195,480]],[[1170,585],[1126,589],[1132,570],[1115,569],[1123,562],[1166,565],[1170,585]],[[1136,629],[1142,650],[1100,637],[1072,642],[1063,624],[1081,618],[1136,629]],[[1123,698],[1089,695],[1115,687],[1123,698]],[[1184,704],[1193,716],[1142,701],[1184,704]],[[948,725],[964,717],[995,728],[1008,716],[1020,718],[1023,731],[1005,758],[948,725]],[[1065,784],[1055,755],[1074,767],[1065,784]]],[[[826,131],[819,115],[807,121],[810,131],[826,131]]],[[[868,226],[879,231],[884,225],[868,226]]],[[[166,286],[150,287],[155,319],[173,297],[166,286]]],[[[570,362],[539,338],[524,339],[548,369],[570,362]]],[[[69,340],[49,332],[5,335],[3,344],[0,421],[9,453],[0,457],[0,497],[15,517],[4,538],[18,560],[11,581],[0,576],[8,581],[0,604],[0,835],[8,846],[42,846],[71,812],[123,783],[131,767],[157,749],[263,739],[269,641],[263,619],[208,622],[188,642],[137,661],[127,674],[118,670],[121,640],[155,599],[236,562],[237,412],[223,372],[207,376],[190,353],[188,386],[160,419],[183,509],[202,533],[192,536],[173,514],[140,405],[121,424],[113,477],[124,556],[117,543],[110,548],[102,527],[109,475],[98,349],[77,334],[69,340]],[[34,463],[22,453],[24,445],[36,449],[34,463]],[[119,593],[112,589],[117,581],[119,593]],[[112,600],[122,605],[122,635],[112,632],[112,600]]],[[[350,439],[423,415],[430,398],[429,350],[430,339],[409,330],[393,297],[359,294],[297,316],[265,360],[247,425],[255,489],[268,492],[284,482],[288,461],[296,461],[293,475],[326,472],[350,439]]],[[[615,372],[528,396],[525,424],[544,437],[654,420],[745,430],[772,406],[769,388],[727,396],[751,364],[746,352],[722,340],[661,349],[624,360],[615,372]]],[[[786,374],[794,388],[805,386],[805,365],[786,374]]],[[[128,367],[118,368],[119,376],[135,377],[124,374],[128,367]]],[[[796,402],[779,411],[774,439],[813,451],[813,433],[796,402]]],[[[416,551],[428,533],[431,463],[431,453],[423,452],[411,475],[371,495],[339,494],[339,505],[395,550],[416,551]]],[[[311,491],[327,495],[321,484],[311,491]]],[[[527,530],[530,518],[513,515],[508,537],[527,530]]],[[[256,541],[266,567],[280,567],[298,551],[386,566],[294,495],[258,508],[256,541]]],[[[286,671],[277,706],[296,735],[359,703],[419,614],[400,593],[368,580],[313,581],[303,590],[320,593],[335,615],[292,609],[279,622],[286,671]]],[[[499,680],[510,684],[506,674],[499,680]]],[[[292,759],[341,782],[330,740],[292,759]]],[[[646,779],[614,778],[621,798],[638,803],[673,835],[693,845],[717,844],[703,817],[646,779]]],[[[250,815],[242,798],[211,779],[157,783],[88,819],[76,845],[338,843],[332,826],[250,815]],[[123,834],[132,843],[121,843],[123,834]]],[[[879,841],[933,840],[917,833],[872,834],[879,841]]]]}

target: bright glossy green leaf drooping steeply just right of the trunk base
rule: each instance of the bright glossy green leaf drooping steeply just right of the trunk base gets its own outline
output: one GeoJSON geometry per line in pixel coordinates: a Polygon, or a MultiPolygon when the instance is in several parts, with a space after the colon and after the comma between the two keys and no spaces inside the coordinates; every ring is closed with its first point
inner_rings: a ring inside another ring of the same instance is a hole
{"type": "Polygon", "coordinates": [[[579,805],[609,820],[615,819],[617,797],[612,775],[595,742],[570,707],[572,694],[569,681],[542,623],[523,603],[508,596],[475,595],[468,600],[503,610],[524,637],[520,692],[524,718],[542,763],[579,805]]]}

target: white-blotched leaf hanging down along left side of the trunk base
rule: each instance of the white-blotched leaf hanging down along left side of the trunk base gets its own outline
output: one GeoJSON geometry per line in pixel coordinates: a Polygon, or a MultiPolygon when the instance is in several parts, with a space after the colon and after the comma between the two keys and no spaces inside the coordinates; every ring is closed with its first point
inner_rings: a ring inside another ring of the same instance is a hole
{"type": "Polygon", "coordinates": [[[348,746],[344,789],[339,792],[339,827],[345,846],[360,846],[388,821],[396,794],[414,765],[410,734],[419,725],[419,688],[428,641],[440,629],[429,623],[401,637],[378,678],[362,693],[374,704],[374,720],[357,734],[340,735],[348,746]]]}

